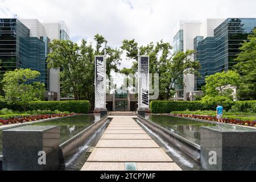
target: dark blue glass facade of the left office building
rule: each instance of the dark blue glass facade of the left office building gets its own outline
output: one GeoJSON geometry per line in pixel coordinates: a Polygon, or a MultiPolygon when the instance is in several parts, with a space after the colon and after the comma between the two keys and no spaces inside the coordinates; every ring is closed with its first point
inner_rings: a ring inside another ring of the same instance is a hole
{"type": "Polygon", "coordinates": [[[43,82],[49,90],[46,56],[49,39],[32,38],[30,30],[18,19],[0,19],[1,75],[16,68],[30,68],[40,72],[35,81],[43,82]]]}

